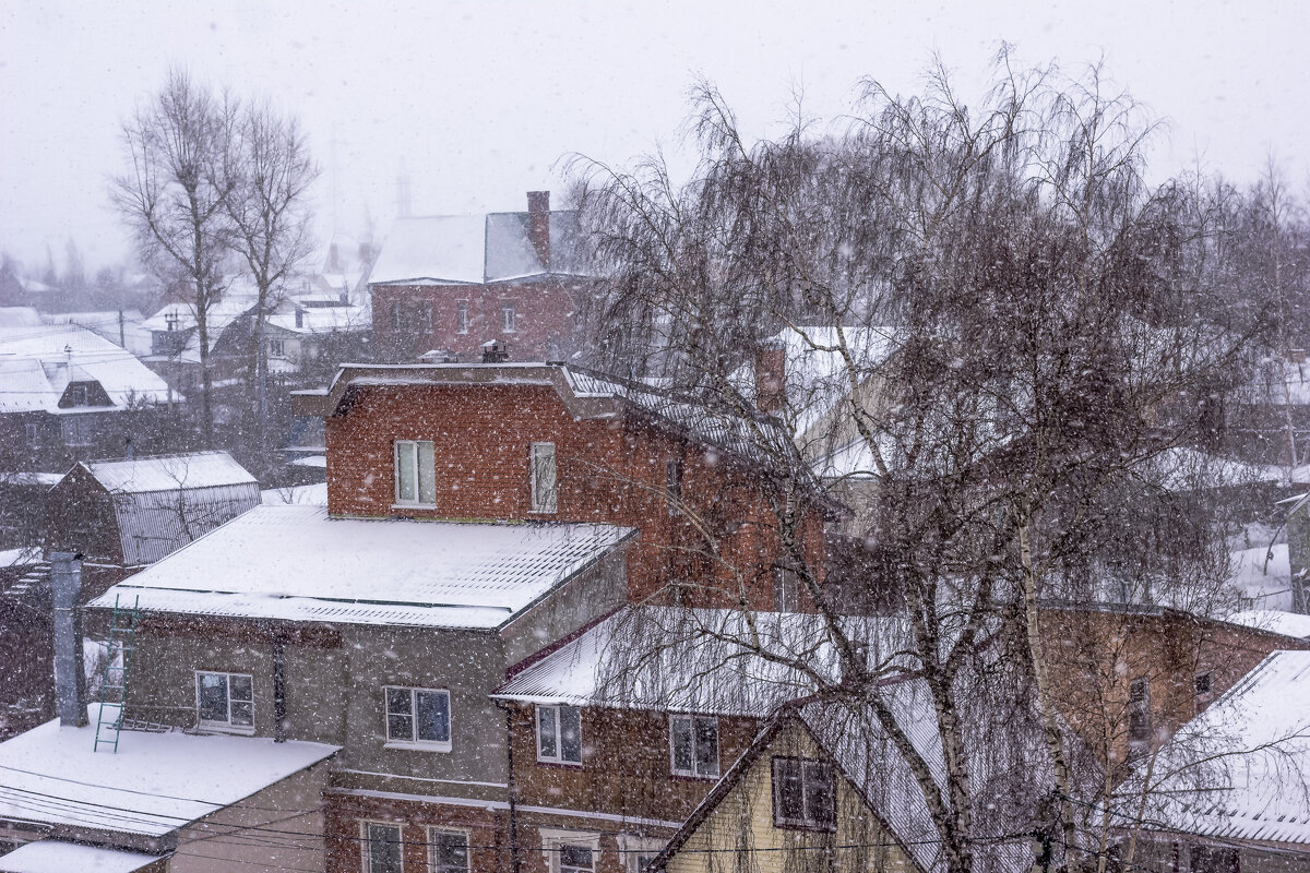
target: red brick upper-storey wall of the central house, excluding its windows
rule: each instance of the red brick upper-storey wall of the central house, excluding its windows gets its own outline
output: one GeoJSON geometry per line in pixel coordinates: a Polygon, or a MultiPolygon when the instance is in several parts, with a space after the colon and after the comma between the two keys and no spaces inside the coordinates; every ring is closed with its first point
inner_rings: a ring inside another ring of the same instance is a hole
{"type": "MultiPolygon", "coordinates": [[[[753,472],[633,419],[574,420],[553,387],[414,385],[362,387],[346,415],[328,419],[328,507],[338,516],[600,522],[637,527],[630,599],[692,581],[686,605],[773,605],[777,520],[753,472]],[[394,507],[393,442],[436,444],[436,505],[394,507]],[[533,513],[532,442],[555,445],[558,508],[533,513]],[[683,465],[688,512],[669,514],[665,462],[683,465]],[[709,539],[692,524],[705,521],[709,539]],[[709,558],[710,544],[718,548],[709,558]],[[713,581],[710,586],[707,582],[713,581]],[[710,590],[707,590],[710,589],[710,590]]],[[[823,524],[806,527],[811,565],[823,565],[823,524]]]]}

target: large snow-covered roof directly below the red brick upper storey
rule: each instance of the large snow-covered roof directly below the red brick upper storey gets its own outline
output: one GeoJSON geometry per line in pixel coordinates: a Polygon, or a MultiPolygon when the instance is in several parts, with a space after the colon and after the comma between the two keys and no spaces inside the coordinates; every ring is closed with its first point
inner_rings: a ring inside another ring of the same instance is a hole
{"type": "Polygon", "coordinates": [[[92,601],[145,611],[500,627],[635,531],[612,525],[330,518],[257,507],[92,601]],[[219,571],[221,568],[221,571],[219,571]]]}

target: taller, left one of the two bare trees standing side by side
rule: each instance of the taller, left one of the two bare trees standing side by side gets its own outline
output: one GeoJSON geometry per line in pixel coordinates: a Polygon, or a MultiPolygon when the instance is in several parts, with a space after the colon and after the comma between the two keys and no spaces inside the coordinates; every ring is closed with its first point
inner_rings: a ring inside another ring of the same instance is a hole
{"type": "Polygon", "coordinates": [[[223,296],[221,264],[232,245],[225,209],[232,182],[220,169],[236,118],[233,99],[174,69],[164,88],[123,122],[127,170],[111,182],[114,205],[134,229],[143,262],[189,291],[206,446],[214,442],[208,314],[223,296]]]}

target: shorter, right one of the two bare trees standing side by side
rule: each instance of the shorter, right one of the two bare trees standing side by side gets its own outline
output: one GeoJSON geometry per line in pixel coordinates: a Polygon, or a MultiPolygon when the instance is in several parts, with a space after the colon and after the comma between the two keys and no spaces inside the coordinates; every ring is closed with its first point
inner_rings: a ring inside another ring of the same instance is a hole
{"type": "Polygon", "coordinates": [[[234,131],[224,154],[223,178],[233,243],[257,293],[250,373],[258,394],[258,442],[263,449],[269,416],[263,326],[284,283],[310,253],[308,191],[318,169],[300,124],[270,103],[248,105],[234,131]]]}

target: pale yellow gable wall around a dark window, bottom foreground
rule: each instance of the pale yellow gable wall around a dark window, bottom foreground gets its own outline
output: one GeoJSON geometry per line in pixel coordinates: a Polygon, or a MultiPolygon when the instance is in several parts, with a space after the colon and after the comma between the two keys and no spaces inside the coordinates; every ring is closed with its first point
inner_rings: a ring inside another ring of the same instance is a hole
{"type": "Polygon", "coordinates": [[[837,775],[837,831],[773,825],[772,759],[823,758],[804,730],[791,726],[769,745],[665,866],[667,873],[912,873],[914,864],[837,775]]]}

